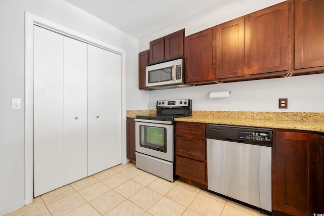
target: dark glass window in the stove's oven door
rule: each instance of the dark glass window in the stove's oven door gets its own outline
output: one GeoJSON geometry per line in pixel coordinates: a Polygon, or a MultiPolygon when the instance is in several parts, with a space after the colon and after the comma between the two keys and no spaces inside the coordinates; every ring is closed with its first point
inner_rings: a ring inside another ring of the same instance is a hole
{"type": "Polygon", "coordinates": [[[140,146],[167,152],[167,128],[140,125],[140,146]]]}

